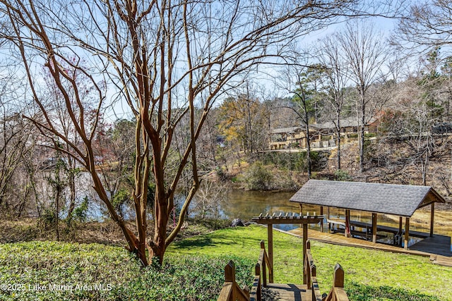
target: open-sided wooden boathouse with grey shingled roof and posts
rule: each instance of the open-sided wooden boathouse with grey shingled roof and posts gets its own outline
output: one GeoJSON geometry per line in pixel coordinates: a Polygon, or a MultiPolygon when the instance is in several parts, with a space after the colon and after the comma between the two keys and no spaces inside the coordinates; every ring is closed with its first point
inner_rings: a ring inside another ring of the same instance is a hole
{"type": "Polygon", "coordinates": [[[309,180],[290,198],[290,202],[299,203],[300,211],[303,211],[303,204],[318,205],[321,215],[325,207],[328,212],[331,207],[344,209],[343,221],[329,219],[328,214],[329,226],[343,226],[345,236],[369,235],[372,242],[376,242],[377,232],[393,233],[394,244],[403,243],[403,247],[408,249],[410,235],[420,238],[434,236],[434,204],[444,203],[445,200],[429,186],[309,180]],[[417,209],[427,206],[431,210],[429,233],[410,233],[410,218],[417,209]],[[350,221],[350,210],[371,212],[371,223],[350,221]],[[398,228],[377,225],[378,214],[399,216],[398,228]]]}

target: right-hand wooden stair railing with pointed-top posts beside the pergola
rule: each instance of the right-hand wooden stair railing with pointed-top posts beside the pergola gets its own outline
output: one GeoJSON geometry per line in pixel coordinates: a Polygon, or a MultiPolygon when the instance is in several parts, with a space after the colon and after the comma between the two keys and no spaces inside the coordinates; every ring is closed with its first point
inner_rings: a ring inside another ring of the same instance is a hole
{"type": "Polygon", "coordinates": [[[312,300],[314,301],[348,301],[347,293],[344,290],[344,270],[340,264],[336,264],[333,274],[333,286],[328,295],[321,295],[319,283],[316,276],[316,265],[311,254],[311,242],[306,242],[306,257],[304,258],[303,283],[307,289],[311,290],[312,300]]]}

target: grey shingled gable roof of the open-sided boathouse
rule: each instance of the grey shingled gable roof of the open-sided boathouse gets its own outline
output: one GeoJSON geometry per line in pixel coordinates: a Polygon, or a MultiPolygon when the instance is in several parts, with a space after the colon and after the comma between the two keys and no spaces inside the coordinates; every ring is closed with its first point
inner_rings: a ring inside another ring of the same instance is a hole
{"type": "Polygon", "coordinates": [[[290,202],[411,217],[416,209],[445,200],[429,186],[309,180],[290,202]]]}

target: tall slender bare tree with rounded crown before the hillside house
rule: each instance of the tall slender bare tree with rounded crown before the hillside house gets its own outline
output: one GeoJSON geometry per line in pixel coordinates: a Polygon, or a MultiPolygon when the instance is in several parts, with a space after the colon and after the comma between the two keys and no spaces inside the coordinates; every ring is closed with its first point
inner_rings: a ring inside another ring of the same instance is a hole
{"type": "Polygon", "coordinates": [[[359,125],[359,171],[364,170],[364,128],[373,115],[369,110],[372,97],[369,89],[384,80],[383,65],[388,47],[371,23],[348,23],[338,34],[342,51],[349,66],[350,79],[357,90],[357,118],[359,125]]]}

